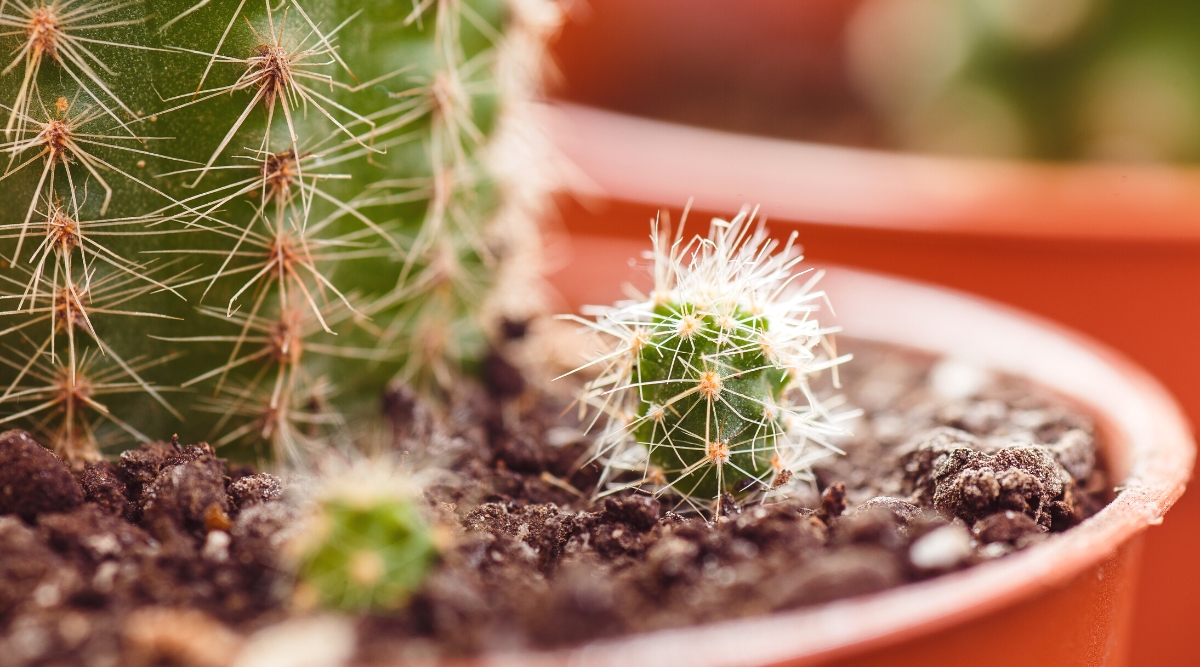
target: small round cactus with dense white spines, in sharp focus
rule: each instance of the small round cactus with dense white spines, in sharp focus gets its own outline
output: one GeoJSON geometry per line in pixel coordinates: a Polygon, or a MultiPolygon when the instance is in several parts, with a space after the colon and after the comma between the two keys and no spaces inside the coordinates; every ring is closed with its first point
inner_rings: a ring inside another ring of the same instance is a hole
{"type": "Polygon", "coordinates": [[[612,342],[581,367],[601,367],[581,397],[608,417],[601,493],[632,486],[698,510],[811,480],[836,451],[838,416],[808,384],[848,359],[815,317],[821,274],[797,282],[796,235],[779,247],[755,220],[743,209],[686,244],[655,223],[654,292],[580,319],[612,342]]]}

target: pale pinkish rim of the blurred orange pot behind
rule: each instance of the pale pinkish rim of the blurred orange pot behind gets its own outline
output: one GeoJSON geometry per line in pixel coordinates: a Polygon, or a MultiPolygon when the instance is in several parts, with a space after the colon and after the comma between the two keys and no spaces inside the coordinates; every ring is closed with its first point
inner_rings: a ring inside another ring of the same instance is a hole
{"type": "Polygon", "coordinates": [[[856,149],[560,101],[541,114],[584,198],[652,206],[695,199],[703,211],[755,202],[778,221],[912,232],[1200,242],[1195,167],[856,149]]]}

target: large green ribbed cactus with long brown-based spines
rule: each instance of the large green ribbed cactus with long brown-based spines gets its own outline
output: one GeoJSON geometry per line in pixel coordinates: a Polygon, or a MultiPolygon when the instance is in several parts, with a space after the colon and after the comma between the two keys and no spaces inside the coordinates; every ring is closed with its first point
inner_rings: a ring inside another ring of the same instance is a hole
{"type": "Polygon", "coordinates": [[[400,5],[0,5],[0,422],[302,458],[536,307],[497,298],[541,185],[504,161],[556,6],[400,5]]]}

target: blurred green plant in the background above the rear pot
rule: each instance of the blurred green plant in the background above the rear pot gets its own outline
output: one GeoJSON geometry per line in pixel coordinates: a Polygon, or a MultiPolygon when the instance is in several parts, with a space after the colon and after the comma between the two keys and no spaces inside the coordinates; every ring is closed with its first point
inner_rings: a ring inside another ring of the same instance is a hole
{"type": "Polygon", "coordinates": [[[870,0],[847,55],[904,148],[1195,161],[1198,22],[1180,0],[870,0]]]}

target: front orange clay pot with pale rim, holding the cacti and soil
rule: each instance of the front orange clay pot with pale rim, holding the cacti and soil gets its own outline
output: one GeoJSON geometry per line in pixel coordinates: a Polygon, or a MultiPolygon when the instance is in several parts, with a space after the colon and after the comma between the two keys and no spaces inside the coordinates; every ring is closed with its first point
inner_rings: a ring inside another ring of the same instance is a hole
{"type": "MultiPolygon", "coordinates": [[[[610,302],[647,244],[576,236],[551,276],[574,305],[610,302]]],[[[1072,530],[1026,551],[889,591],[702,627],[654,632],[488,665],[1124,665],[1144,530],[1183,493],[1195,447],[1178,407],[1111,349],[961,293],[830,268],[845,334],[952,355],[1033,379],[1097,419],[1123,488],[1072,530]]],[[[828,314],[826,316],[828,317],[828,314]]]]}

